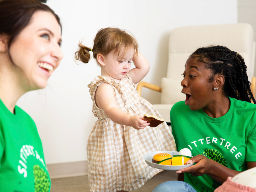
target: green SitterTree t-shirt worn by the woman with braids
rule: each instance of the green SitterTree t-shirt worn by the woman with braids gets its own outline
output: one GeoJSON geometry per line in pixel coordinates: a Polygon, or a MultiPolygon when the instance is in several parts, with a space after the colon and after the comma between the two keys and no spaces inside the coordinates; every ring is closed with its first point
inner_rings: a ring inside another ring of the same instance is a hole
{"type": "MultiPolygon", "coordinates": [[[[170,112],[172,134],[178,151],[189,148],[192,156],[202,154],[244,171],[247,161],[256,161],[256,105],[229,99],[229,111],[219,118],[209,117],[201,109],[192,111],[184,101],[176,103],[170,112]]],[[[220,185],[208,175],[185,173],[184,181],[201,192],[212,192],[220,185]]]]}

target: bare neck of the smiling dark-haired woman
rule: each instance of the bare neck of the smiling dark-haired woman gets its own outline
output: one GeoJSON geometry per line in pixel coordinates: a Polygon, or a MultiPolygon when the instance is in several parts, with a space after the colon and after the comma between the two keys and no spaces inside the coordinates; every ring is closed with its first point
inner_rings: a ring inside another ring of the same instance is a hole
{"type": "Polygon", "coordinates": [[[27,81],[22,79],[22,72],[12,64],[8,66],[0,63],[0,99],[7,109],[14,113],[16,102],[27,92],[24,89],[24,87],[28,87],[25,84],[27,81]]]}

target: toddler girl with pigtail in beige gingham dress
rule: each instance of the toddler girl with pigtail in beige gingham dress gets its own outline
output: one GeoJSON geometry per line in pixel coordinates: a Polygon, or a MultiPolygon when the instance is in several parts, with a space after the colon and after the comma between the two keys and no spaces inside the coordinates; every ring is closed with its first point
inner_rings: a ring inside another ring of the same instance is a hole
{"type": "Polygon", "coordinates": [[[101,75],[88,85],[98,117],[87,142],[90,191],[135,190],[161,171],[145,163],[145,154],[176,150],[167,124],[148,127],[142,116],[161,118],[135,89],[149,64],[138,52],[135,38],[118,28],[100,29],[92,49],[81,43],[79,47],[77,60],[88,63],[92,51],[101,67],[101,75]],[[135,68],[130,70],[132,61],[135,68]]]}

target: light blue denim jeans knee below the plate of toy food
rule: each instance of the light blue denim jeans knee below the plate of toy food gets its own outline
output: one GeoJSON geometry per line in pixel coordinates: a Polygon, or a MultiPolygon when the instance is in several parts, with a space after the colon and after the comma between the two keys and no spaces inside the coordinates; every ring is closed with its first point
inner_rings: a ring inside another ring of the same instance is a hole
{"type": "Polygon", "coordinates": [[[167,181],[158,185],[152,192],[197,192],[183,181],[167,181]]]}

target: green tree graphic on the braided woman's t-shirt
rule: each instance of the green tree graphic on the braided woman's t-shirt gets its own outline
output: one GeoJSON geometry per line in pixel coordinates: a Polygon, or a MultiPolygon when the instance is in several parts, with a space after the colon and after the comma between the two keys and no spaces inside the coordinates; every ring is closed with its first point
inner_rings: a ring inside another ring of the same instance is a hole
{"type": "MultiPolygon", "coordinates": [[[[205,149],[204,152],[202,153],[202,155],[204,155],[208,159],[212,159],[212,160],[227,167],[226,159],[223,157],[223,155],[219,151],[217,151],[215,149],[205,149]]],[[[212,179],[212,188],[216,189],[220,185],[221,184],[219,182],[212,179]]]]}

